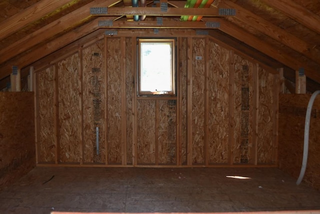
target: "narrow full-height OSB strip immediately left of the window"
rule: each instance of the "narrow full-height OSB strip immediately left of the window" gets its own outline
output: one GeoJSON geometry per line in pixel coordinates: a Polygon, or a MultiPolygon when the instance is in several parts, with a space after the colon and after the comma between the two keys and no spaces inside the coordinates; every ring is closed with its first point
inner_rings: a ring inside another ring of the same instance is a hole
{"type": "Polygon", "coordinates": [[[133,117],[132,117],[132,93],[133,93],[133,65],[132,62],[132,39],[125,39],[125,71],[126,71],[126,163],[132,164],[133,145],[133,117]]]}

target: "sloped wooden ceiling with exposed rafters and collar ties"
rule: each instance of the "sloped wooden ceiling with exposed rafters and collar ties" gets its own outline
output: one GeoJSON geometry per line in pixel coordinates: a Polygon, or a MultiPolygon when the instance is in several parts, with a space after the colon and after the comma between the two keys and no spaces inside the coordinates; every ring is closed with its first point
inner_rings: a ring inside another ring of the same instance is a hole
{"type": "Polygon", "coordinates": [[[320,89],[319,1],[214,0],[209,9],[184,8],[185,3],[146,1],[146,8],[128,8],[118,0],[2,0],[0,88],[5,86],[12,66],[26,68],[100,28],[170,28],[206,30],[270,70],[283,68],[285,78],[292,82],[295,71],[303,68],[307,90],[320,89]],[[160,4],[167,4],[167,10],[161,11],[160,4]],[[107,14],[91,15],[90,8],[96,7],[107,7],[107,14]],[[221,8],[235,9],[235,15],[221,15],[221,8]],[[144,21],[127,21],[126,15],[133,14],[147,16],[144,21]],[[181,22],[181,15],[203,17],[199,22],[181,22]],[[159,17],[161,25],[156,20],[159,17]],[[108,21],[108,25],[99,27],[98,21],[108,21]],[[219,26],[212,28],[212,23],[219,26]]]}

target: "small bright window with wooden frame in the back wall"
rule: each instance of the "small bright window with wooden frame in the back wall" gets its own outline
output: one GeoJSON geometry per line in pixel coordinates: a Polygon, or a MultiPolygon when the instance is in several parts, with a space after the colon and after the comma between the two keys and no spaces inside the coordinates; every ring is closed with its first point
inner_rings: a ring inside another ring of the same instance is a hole
{"type": "Polygon", "coordinates": [[[174,49],[174,39],[138,39],[138,96],[175,95],[174,49]]]}

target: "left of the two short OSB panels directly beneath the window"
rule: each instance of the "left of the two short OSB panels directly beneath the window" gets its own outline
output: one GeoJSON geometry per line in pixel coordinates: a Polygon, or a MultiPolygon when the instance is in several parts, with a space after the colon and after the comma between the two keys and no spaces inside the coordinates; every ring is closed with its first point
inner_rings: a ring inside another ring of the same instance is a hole
{"type": "Polygon", "coordinates": [[[155,163],[155,101],[137,100],[137,163],[155,163]]]}

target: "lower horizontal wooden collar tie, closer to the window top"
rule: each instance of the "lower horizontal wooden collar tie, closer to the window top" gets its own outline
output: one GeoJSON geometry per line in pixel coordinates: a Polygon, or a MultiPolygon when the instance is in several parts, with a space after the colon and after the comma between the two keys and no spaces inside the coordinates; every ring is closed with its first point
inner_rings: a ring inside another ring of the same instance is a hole
{"type": "Polygon", "coordinates": [[[207,26],[206,22],[180,22],[180,21],[163,21],[162,24],[158,24],[156,21],[143,21],[143,22],[131,22],[131,21],[114,21],[110,26],[100,26],[105,29],[119,29],[119,28],[156,28],[156,29],[216,29],[207,26]]]}

